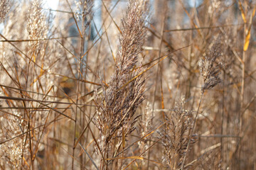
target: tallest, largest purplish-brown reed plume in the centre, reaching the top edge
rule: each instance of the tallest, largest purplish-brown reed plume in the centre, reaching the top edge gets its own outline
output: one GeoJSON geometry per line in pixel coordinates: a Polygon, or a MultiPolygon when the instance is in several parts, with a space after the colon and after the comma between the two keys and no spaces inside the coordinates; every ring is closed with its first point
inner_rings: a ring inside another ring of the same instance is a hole
{"type": "MultiPolygon", "coordinates": [[[[139,52],[145,38],[144,6],[137,6],[144,1],[129,1],[127,15],[122,20],[122,35],[120,35],[117,65],[110,80],[110,87],[103,91],[102,96],[95,96],[97,103],[97,128],[106,136],[105,142],[110,142],[113,133],[123,127],[125,132],[134,130],[137,119],[129,123],[137,107],[144,100],[144,80],[142,76],[126,86],[129,79],[141,72],[132,70],[137,63],[139,52]]],[[[142,3],[144,4],[144,3],[142,3]]],[[[118,134],[118,132],[117,132],[118,134]]]]}

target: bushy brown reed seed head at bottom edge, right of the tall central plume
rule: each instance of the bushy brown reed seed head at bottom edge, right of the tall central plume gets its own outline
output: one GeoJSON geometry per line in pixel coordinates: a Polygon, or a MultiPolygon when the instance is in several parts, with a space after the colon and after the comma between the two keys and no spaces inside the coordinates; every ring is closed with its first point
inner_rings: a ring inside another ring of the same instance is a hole
{"type": "Polygon", "coordinates": [[[176,104],[174,111],[166,115],[165,128],[159,131],[164,147],[164,163],[171,169],[181,166],[188,145],[188,134],[193,128],[192,111],[186,111],[183,103],[176,104]]]}

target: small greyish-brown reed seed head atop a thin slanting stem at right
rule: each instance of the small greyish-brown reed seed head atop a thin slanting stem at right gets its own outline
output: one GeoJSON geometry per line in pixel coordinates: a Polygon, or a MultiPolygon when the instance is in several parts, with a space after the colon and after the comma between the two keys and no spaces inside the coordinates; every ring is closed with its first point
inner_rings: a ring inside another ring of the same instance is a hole
{"type": "Polygon", "coordinates": [[[207,52],[205,59],[201,59],[199,62],[201,76],[203,77],[202,91],[211,89],[221,82],[220,77],[220,63],[216,60],[221,56],[221,44],[220,40],[216,40],[210,51],[207,52]]]}

